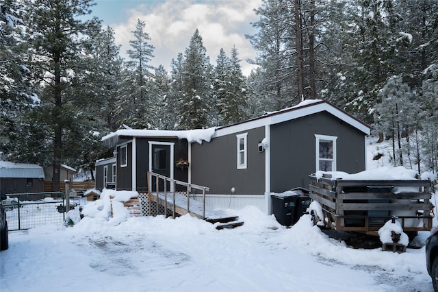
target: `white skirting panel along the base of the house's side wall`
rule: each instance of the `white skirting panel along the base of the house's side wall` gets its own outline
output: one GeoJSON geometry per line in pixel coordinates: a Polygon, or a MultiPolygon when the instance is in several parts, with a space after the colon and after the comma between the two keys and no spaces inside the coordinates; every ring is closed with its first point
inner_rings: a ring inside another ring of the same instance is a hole
{"type": "MultiPolygon", "coordinates": [[[[193,195],[190,195],[192,197],[193,195]]],[[[194,195],[196,201],[202,202],[202,195],[194,195]]],[[[265,195],[211,195],[205,196],[205,204],[213,208],[239,210],[248,205],[266,212],[265,195]]]]}

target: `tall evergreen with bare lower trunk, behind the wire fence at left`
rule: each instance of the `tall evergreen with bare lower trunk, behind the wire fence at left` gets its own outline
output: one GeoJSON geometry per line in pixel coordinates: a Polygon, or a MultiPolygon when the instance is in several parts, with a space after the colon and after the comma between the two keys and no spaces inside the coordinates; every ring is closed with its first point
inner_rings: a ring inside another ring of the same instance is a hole
{"type": "MultiPolygon", "coordinates": [[[[91,0],[36,0],[27,3],[29,42],[34,48],[33,68],[42,80],[40,114],[46,117],[53,165],[53,191],[60,188],[60,168],[68,154],[66,137],[76,131],[78,106],[84,97],[72,95],[70,89],[82,86],[79,80],[88,71],[83,62],[86,38],[100,29],[97,19],[85,20],[91,0]]],[[[47,143],[47,141],[42,141],[47,143]]]]}

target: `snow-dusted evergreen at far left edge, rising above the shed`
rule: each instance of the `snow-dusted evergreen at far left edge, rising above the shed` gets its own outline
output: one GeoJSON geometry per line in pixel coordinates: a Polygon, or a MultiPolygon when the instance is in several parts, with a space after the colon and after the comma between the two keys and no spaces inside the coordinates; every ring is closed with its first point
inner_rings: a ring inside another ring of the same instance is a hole
{"type": "Polygon", "coordinates": [[[15,144],[26,136],[22,119],[32,106],[39,104],[39,99],[31,88],[25,23],[19,11],[16,1],[0,3],[0,156],[27,162],[20,161],[13,153],[15,144]]]}

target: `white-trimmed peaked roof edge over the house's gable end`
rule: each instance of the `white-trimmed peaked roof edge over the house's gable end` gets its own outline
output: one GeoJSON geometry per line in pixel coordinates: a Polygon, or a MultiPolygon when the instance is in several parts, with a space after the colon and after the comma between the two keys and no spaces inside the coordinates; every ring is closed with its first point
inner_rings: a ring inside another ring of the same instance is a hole
{"type": "Polygon", "coordinates": [[[291,108],[285,108],[277,112],[268,112],[263,114],[261,117],[256,117],[254,119],[242,121],[233,125],[218,127],[214,137],[246,131],[254,129],[255,127],[263,127],[265,125],[274,125],[276,123],[282,123],[284,121],[290,121],[324,111],[333,114],[338,119],[341,119],[345,123],[348,123],[348,125],[357,128],[357,130],[360,130],[364,134],[370,134],[371,127],[369,125],[363,123],[359,119],[356,119],[351,114],[348,114],[337,106],[334,106],[328,101],[320,99],[307,99],[296,106],[292,106],[291,108]]]}

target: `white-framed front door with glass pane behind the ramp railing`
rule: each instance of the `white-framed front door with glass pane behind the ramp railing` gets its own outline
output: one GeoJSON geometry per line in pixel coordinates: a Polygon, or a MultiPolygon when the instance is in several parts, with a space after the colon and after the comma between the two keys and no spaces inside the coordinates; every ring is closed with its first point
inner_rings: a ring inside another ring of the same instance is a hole
{"type": "MultiPolygon", "coordinates": [[[[172,175],[172,145],[152,144],[151,145],[151,171],[173,178],[172,175]]],[[[152,178],[152,187],[155,191],[156,179],[152,178]]],[[[167,183],[166,190],[170,191],[170,182],[167,183]]],[[[164,180],[159,180],[159,191],[164,191],[164,180]]]]}

